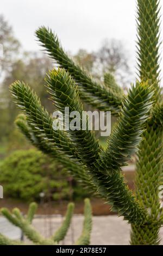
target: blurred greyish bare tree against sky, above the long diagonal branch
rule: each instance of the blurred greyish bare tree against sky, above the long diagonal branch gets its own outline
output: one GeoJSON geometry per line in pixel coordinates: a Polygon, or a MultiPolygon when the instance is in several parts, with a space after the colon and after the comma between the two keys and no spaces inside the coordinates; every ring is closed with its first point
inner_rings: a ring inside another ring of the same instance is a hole
{"type": "Polygon", "coordinates": [[[105,39],[96,52],[80,49],[74,60],[86,69],[93,78],[102,80],[105,73],[114,75],[117,82],[126,89],[133,72],[130,69],[129,54],[121,41],[105,39]],[[128,56],[128,57],[127,57],[128,56]]]}

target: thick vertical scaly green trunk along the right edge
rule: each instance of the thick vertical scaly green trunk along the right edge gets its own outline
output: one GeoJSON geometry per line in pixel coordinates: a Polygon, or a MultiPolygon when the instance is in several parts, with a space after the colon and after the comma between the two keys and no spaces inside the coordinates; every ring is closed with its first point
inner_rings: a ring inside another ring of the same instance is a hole
{"type": "Polygon", "coordinates": [[[154,90],[154,106],[146,122],[136,161],[136,198],[147,209],[151,221],[145,227],[131,225],[131,244],[157,245],[160,242],[160,199],[162,173],[162,127],[160,114],[160,1],[137,0],[137,66],[139,80],[154,90]]]}

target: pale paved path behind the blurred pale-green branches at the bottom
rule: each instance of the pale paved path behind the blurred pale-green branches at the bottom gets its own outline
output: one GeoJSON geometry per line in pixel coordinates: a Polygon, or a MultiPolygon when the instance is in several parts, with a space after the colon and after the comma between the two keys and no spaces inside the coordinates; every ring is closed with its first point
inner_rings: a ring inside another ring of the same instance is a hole
{"type": "MultiPolygon", "coordinates": [[[[48,237],[61,224],[61,216],[52,216],[48,218],[36,217],[33,225],[41,234],[48,237]]],[[[73,222],[62,242],[64,245],[71,245],[82,231],[82,215],[74,215],[73,222]]],[[[13,227],[8,221],[0,218],[0,233],[9,236],[12,239],[20,238],[20,229],[13,227]]],[[[91,235],[92,245],[129,245],[130,225],[123,221],[122,217],[117,216],[95,216],[93,217],[93,229],[91,235]]],[[[161,244],[163,245],[163,228],[160,231],[161,244]]]]}

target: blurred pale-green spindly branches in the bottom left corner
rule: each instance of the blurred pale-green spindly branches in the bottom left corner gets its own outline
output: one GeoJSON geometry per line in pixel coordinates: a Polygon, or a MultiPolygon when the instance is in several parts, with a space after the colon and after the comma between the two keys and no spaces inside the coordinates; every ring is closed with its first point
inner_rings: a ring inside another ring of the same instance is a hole
{"type": "MultiPolygon", "coordinates": [[[[19,227],[24,235],[33,242],[34,245],[58,245],[58,243],[64,240],[68,229],[70,228],[71,220],[73,217],[74,204],[69,203],[67,205],[67,211],[62,221],[60,227],[55,231],[55,233],[49,237],[43,237],[32,225],[32,221],[37,209],[36,203],[31,203],[26,216],[22,216],[19,209],[14,208],[10,212],[7,208],[1,209],[1,214],[7,218],[9,222],[19,227]]],[[[84,221],[82,234],[78,237],[76,245],[89,245],[90,236],[92,230],[92,209],[90,200],[86,198],[84,200],[84,221]]],[[[20,240],[11,240],[7,236],[0,234],[0,245],[25,245],[20,240]]]]}

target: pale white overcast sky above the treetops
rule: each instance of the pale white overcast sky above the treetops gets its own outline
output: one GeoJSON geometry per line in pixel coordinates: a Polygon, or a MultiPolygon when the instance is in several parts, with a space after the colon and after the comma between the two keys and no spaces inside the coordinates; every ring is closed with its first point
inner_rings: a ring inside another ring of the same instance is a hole
{"type": "MultiPolygon", "coordinates": [[[[104,39],[122,40],[135,56],[135,0],[1,0],[0,13],[9,21],[24,50],[39,51],[34,31],[49,26],[66,51],[97,50],[104,39]]],[[[163,0],[161,0],[163,5],[163,0]]],[[[161,9],[162,14],[162,9],[161,9]]],[[[162,22],[163,23],[163,22],[162,22]]],[[[163,24],[161,25],[163,29],[163,24]]],[[[162,38],[162,36],[161,36],[162,38]]],[[[163,63],[161,65],[163,67],[163,63]]]]}

